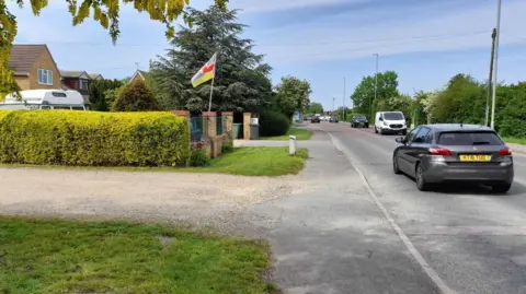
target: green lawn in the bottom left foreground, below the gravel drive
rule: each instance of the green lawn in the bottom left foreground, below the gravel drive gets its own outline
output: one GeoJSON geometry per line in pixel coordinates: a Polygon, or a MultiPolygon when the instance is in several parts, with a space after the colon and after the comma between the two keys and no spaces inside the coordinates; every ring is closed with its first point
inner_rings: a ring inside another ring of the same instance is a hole
{"type": "Polygon", "coordinates": [[[0,293],[275,293],[266,245],[157,225],[0,216],[0,293]]]}

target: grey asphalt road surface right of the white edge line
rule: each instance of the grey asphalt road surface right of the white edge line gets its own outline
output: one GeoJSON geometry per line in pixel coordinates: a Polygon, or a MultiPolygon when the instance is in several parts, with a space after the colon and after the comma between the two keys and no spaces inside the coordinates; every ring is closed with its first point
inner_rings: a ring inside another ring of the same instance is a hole
{"type": "Polygon", "coordinates": [[[515,155],[507,195],[483,187],[445,186],[421,192],[414,180],[392,173],[397,136],[311,125],[348,151],[378,200],[424,260],[454,293],[526,293],[526,157],[515,155]]]}

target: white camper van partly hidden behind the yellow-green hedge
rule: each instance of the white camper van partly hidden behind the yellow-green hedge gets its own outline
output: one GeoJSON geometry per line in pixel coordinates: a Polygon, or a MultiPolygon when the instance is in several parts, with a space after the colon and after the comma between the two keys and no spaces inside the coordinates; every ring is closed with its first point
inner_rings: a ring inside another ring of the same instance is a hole
{"type": "Polygon", "coordinates": [[[5,96],[0,109],[71,109],[85,110],[84,98],[78,91],[25,90],[5,96]]]}

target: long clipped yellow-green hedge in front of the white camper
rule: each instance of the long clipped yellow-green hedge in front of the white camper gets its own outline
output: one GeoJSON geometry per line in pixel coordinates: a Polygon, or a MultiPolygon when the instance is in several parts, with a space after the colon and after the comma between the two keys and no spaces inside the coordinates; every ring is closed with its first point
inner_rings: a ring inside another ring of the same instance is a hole
{"type": "Polygon", "coordinates": [[[168,113],[0,111],[2,163],[175,166],[188,157],[188,125],[168,113]]]}

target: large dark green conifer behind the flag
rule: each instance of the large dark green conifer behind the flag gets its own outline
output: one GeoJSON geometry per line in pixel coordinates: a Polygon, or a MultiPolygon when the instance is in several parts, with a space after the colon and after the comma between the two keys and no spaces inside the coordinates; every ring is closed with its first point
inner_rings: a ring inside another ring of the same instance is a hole
{"type": "Polygon", "coordinates": [[[205,11],[187,9],[193,27],[181,27],[172,48],[150,64],[152,87],[163,108],[202,110],[208,107],[210,83],[192,87],[190,80],[218,52],[211,108],[256,110],[272,95],[271,67],[252,52],[253,42],[242,38],[245,25],[237,23],[237,11],[213,5],[205,11]]]}

